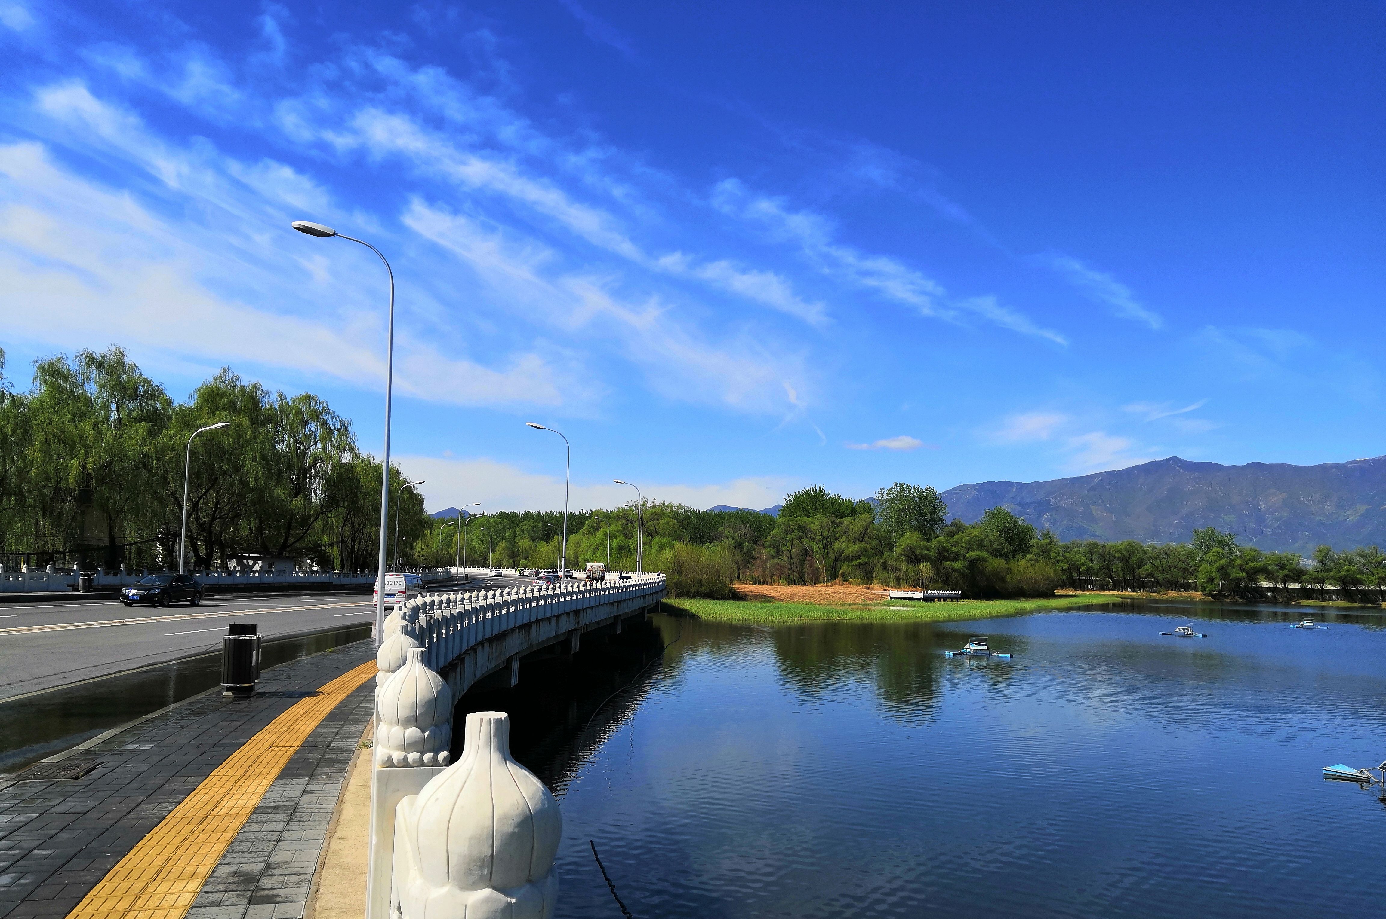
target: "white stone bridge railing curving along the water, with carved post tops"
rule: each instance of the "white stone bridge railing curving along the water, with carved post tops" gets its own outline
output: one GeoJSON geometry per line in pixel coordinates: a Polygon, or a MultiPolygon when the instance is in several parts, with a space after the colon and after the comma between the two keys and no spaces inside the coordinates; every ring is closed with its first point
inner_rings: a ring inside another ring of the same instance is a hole
{"type": "Polygon", "coordinates": [[[520,659],[620,631],[664,598],[663,574],[430,594],[385,619],[376,656],[366,919],[547,919],[559,806],[510,758],[505,713],[467,717],[450,763],[453,703],[480,680],[514,685],[520,659]]]}

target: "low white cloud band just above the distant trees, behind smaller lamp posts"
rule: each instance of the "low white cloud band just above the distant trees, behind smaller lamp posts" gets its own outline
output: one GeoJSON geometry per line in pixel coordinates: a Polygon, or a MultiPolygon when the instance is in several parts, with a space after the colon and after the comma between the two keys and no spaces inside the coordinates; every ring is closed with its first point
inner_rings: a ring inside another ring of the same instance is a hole
{"type": "MultiPolygon", "coordinates": [[[[481,501],[485,511],[561,511],[563,476],[525,472],[489,458],[449,459],[403,455],[405,475],[424,479],[426,504],[432,511],[481,501]]],[[[560,469],[561,472],[561,469],[560,469]]],[[[647,501],[672,501],[705,509],[717,504],[764,508],[776,504],[796,484],[787,477],[748,477],[707,484],[638,483],[647,501]]],[[[568,497],[571,511],[615,508],[631,502],[635,491],[611,482],[575,482],[568,497]]]]}

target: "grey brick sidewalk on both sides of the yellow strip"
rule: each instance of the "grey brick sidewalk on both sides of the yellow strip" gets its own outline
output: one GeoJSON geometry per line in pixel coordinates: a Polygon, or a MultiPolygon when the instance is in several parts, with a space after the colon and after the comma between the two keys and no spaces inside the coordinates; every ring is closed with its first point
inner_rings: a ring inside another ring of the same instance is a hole
{"type": "MultiPolygon", "coordinates": [[[[80,779],[0,781],[0,919],[65,916],[243,743],[373,655],[369,641],[356,642],[265,671],[255,699],[188,699],[86,750],[101,765],[80,779]]],[[[348,696],[294,753],[198,897],[197,916],[302,915],[373,692],[369,681],[348,696]]]]}

